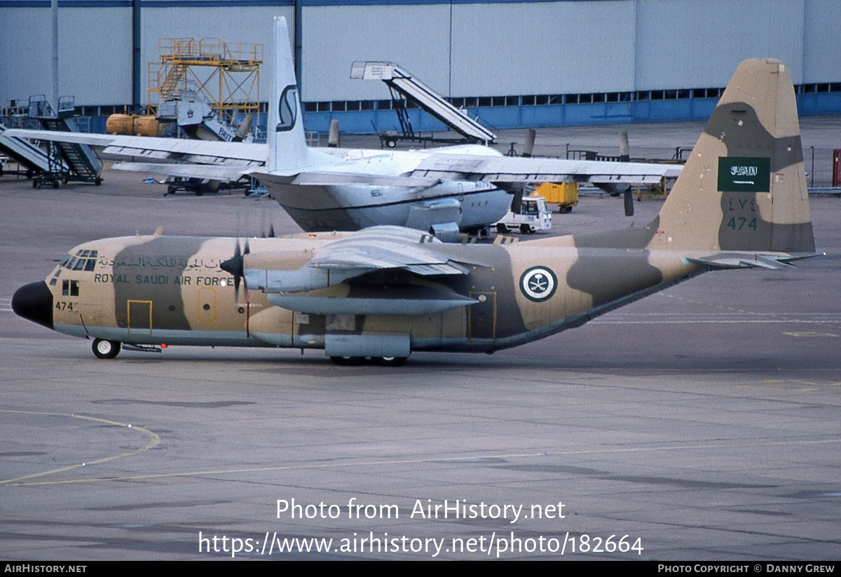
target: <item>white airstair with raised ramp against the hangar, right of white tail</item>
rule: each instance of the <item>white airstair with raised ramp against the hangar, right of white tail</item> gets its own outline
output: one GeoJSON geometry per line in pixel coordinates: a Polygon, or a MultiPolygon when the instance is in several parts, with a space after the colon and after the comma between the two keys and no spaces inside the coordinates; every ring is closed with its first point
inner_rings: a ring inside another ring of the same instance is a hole
{"type": "MultiPolygon", "coordinates": [[[[396,104],[394,109],[397,112],[400,129],[404,133],[403,137],[408,140],[423,139],[415,136],[405,105],[400,105],[401,101],[395,97],[395,93],[416,103],[421,109],[447,124],[452,130],[462,135],[464,140],[486,144],[496,139],[493,132],[479,124],[478,121],[471,119],[463,110],[459,110],[448,103],[440,94],[393,62],[354,62],[351,68],[351,78],[385,82],[389,91],[391,91],[392,101],[396,104]]],[[[381,136],[381,138],[388,146],[394,146],[396,137],[394,140],[389,140],[388,135],[381,136]]]]}

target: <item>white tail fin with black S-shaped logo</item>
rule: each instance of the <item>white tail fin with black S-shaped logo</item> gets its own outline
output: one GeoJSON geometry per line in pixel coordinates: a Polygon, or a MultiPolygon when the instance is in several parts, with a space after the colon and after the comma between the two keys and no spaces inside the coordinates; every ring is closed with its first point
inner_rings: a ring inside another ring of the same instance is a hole
{"type": "Polygon", "coordinates": [[[274,18],[274,78],[268,113],[268,146],[270,172],[295,172],[308,164],[304,138],[304,119],[289,31],[283,16],[274,18]]]}

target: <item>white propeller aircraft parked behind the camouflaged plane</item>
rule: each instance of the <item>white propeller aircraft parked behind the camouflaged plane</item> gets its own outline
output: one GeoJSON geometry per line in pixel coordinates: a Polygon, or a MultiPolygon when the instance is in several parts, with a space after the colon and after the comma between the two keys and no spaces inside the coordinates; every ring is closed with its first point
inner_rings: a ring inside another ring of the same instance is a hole
{"type": "MultiPolygon", "coordinates": [[[[479,145],[428,151],[315,149],[306,145],[286,20],[275,19],[275,69],[269,146],[127,135],[9,130],[9,135],[106,146],[134,156],[114,168],[172,177],[259,178],[304,230],[400,225],[455,240],[486,232],[521,198],[525,183],[593,183],[608,191],[660,183],[680,167],[633,162],[511,158],[479,145]],[[181,161],[182,164],[149,162],[181,161]],[[265,167],[268,161],[268,170],[265,167]]],[[[519,212],[519,206],[516,212],[519,212]]]]}

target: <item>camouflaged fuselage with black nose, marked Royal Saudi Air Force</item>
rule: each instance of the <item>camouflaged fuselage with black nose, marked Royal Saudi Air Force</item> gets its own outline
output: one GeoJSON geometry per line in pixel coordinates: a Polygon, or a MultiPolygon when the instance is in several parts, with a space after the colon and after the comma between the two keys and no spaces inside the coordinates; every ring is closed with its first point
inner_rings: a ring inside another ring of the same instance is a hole
{"type": "MultiPolygon", "coordinates": [[[[266,252],[278,268],[294,270],[345,234],[251,239],[251,254],[266,252]]],[[[45,281],[19,289],[14,308],[68,335],[138,345],[321,348],[331,336],[373,335],[404,338],[412,351],[493,352],[579,326],[698,269],[669,251],[576,246],[574,237],[502,246],[437,243],[428,250],[468,273],[420,278],[378,271],[320,293],[372,295],[373,314],[317,314],[305,310],[306,294],[298,301],[304,310],[289,310],[272,304],[276,295],[235,287],[220,263],[238,242],[174,236],[87,242],[71,249],[45,281]],[[389,290],[450,294],[472,304],[377,314],[377,299],[388,299],[389,290]]]]}

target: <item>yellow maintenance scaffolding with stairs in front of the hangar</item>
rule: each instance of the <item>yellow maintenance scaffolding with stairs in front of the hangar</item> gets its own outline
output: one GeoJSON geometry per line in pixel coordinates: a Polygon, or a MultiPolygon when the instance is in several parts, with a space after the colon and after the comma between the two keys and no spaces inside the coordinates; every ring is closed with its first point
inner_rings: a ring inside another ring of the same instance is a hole
{"type": "Polygon", "coordinates": [[[238,124],[237,114],[259,112],[262,44],[161,38],[158,55],[161,62],[148,68],[148,114],[184,92],[196,93],[227,124],[238,124]]]}

